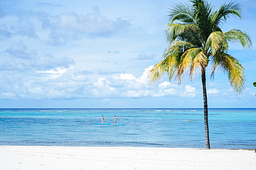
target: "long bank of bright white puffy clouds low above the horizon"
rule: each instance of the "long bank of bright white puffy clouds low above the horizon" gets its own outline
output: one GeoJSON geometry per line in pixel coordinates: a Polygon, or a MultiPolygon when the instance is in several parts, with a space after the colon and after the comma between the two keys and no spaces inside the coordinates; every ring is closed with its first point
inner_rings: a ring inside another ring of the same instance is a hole
{"type": "MultiPolygon", "coordinates": [[[[63,70],[48,70],[37,72],[41,78],[27,81],[20,77],[20,81],[3,87],[2,92],[18,94],[16,98],[57,99],[57,98],[145,98],[177,96],[178,92],[170,88],[167,81],[160,83],[159,87],[147,87],[143,75],[136,78],[132,74],[114,74],[96,78],[96,75],[80,74],[74,67],[63,70]],[[13,89],[12,87],[16,87],[13,89]]],[[[0,77],[4,80],[4,77],[0,77]]],[[[11,78],[11,77],[9,77],[11,78]]],[[[1,81],[0,80],[0,81],[1,81]]],[[[12,82],[14,83],[14,82],[12,82]]],[[[0,91],[1,91],[0,90],[0,91]]],[[[14,96],[1,96],[1,98],[14,98],[14,96]]]]}

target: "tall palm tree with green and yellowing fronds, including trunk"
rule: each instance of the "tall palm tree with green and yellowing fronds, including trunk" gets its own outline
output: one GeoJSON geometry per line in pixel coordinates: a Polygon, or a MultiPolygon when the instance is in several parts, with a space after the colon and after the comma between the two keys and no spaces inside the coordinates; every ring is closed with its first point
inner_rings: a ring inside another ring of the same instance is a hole
{"type": "Polygon", "coordinates": [[[163,54],[163,61],[154,65],[148,78],[149,84],[152,84],[167,74],[170,81],[178,78],[181,83],[186,70],[189,71],[191,80],[196,73],[201,74],[205,149],[210,149],[206,67],[212,63],[212,78],[219,67],[228,74],[228,80],[235,92],[241,93],[244,88],[244,67],[238,59],[228,54],[228,43],[238,42],[243,47],[250,48],[252,42],[246,32],[238,29],[222,32],[220,28],[228,17],[241,18],[239,3],[231,1],[215,11],[208,1],[190,2],[177,4],[170,10],[170,23],[166,30],[169,45],[163,54]]]}

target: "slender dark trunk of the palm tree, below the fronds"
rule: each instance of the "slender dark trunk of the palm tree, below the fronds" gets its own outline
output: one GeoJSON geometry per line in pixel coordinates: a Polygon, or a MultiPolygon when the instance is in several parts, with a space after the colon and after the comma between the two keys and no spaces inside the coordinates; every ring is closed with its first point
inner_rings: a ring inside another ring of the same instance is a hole
{"type": "Polygon", "coordinates": [[[201,78],[202,78],[202,86],[203,86],[203,118],[204,118],[204,128],[205,128],[205,149],[210,149],[205,68],[202,68],[201,70],[201,78]]]}

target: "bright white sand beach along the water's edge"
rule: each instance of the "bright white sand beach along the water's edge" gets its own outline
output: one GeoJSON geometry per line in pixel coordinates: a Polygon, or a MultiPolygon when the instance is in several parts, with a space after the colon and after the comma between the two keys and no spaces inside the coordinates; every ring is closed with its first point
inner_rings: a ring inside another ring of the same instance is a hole
{"type": "Polygon", "coordinates": [[[256,169],[253,149],[0,146],[0,169],[256,169]]]}

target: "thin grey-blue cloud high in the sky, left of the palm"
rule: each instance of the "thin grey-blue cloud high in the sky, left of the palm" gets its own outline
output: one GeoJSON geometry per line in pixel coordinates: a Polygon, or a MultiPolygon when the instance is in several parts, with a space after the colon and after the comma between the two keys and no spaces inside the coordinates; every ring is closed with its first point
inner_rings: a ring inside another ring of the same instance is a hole
{"type": "Polygon", "coordinates": [[[44,29],[51,30],[49,43],[64,45],[68,39],[81,39],[86,34],[91,37],[108,37],[125,30],[130,21],[117,17],[115,20],[105,17],[98,6],[86,15],[75,12],[63,12],[57,16],[47,15],[40,19],[44,29]]]}

